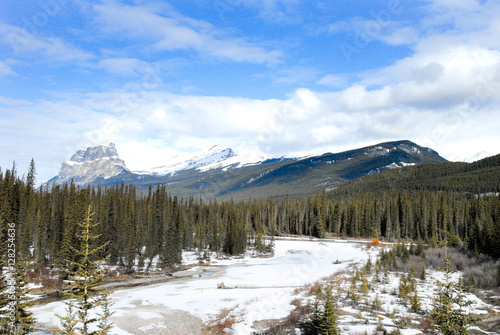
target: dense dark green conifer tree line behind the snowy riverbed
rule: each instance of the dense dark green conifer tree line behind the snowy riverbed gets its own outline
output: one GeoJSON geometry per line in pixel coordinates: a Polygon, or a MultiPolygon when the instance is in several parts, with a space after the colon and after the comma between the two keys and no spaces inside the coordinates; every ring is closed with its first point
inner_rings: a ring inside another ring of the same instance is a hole
{"type": "MultiPolygon", "coordinates": [[[[25,177],[0,170],[1,239],[16,223],[16,250],[37,267],[74,271],[78,224],[92,207],[100,258],[131,269],[159,257],[170,267],[183,249],[240,254],[249,244],[262,251],[264,236],[377,237],[438,245],[464,245],[500,257],[500,199],[458,192],[392,190],[318,194],[304,199],[220,201],[178,198],[168,187],[139,194],[133,185],[35,188],[34,164],[25,177]]],[[[4,248],[4,246],[2,246],[4,248]]],[[[5,252],[2,251],[2,255],[5,252]]]]}

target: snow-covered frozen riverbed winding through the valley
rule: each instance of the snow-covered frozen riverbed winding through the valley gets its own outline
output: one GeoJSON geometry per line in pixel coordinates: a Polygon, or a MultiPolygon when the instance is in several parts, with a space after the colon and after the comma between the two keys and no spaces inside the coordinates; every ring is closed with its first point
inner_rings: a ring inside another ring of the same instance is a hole
{"type": "MultiPolygon", "coordinates": [[[[272,257],[212,260],[210,266],[189,270],[193,276],[188,279],[115,291],[112,333],[161,334],[169,323],[179,323],[180,319],[172,319],[171,314],[167,319],[165,314],[174,310],[188,312],[205,325],[217,321],[221,313],[229,313],[235,321],[233,334],[250,334],[254,321],[286,317],[294,308],[290,303],[296,288],[368,257],[359,243],[277,240],[272,257]],[[220,283],[227,289],[218,289],[220,283]]],[[[184,259],[189,263],[194,257],[187,254],[184,259]]],[[[65,315],[65,305],[53,302],[32,311],[40,328],[50,330],[59,324],[55,314],[65,315]]]]}

